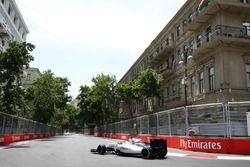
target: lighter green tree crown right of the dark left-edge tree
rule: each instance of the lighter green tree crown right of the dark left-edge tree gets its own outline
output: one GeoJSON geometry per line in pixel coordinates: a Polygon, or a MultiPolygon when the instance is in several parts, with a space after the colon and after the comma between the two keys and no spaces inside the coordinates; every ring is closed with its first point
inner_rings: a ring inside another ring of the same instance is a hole
{"type": "Polygon", "coordinates": [[[55,77],[50,70],[37,78],[32,87],[28,89],[36,121],[53,123],[54,118],[60,118],[67,103],[71,100],[67,94],[68,86],[70,86],[70,82],[67,78],[55,77]]]}

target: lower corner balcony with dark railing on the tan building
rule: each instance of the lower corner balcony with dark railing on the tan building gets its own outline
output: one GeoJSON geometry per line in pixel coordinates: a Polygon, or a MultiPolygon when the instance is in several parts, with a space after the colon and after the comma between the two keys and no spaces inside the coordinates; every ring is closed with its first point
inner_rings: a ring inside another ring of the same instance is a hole
{"type": "Polygon", "coordinates": [[[238,27],[217,25],[209,34],[196,41],[193,57],[197,58],[221,44],[230,47],[250,47],[250,30],[238,27]]]}

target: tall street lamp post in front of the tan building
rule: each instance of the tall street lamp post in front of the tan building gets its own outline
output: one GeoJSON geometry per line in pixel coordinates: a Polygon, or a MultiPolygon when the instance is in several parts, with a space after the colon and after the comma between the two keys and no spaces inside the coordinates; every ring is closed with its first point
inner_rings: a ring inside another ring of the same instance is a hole
{"type": "Polygon", "coordinates": [[[184,47],[184,52],[183,52],[183,60],[181,60],[179,62],[179,64],[183,64],[184,65],[184,112],[185,112],[185,125],[186,125],[186,136],[188,136],[188,127],[189,127],[189,123],[188,123],[188,111],[187,111],[187,63],[189,59],[192,59],[192,55],[189,54],[190,52],[190,48],[188,47],[184,47]]]}

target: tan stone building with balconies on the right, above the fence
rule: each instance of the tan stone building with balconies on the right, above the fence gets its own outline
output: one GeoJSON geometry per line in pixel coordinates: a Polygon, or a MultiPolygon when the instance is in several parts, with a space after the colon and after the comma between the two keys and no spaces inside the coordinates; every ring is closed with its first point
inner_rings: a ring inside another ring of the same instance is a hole
{"type": "MultiPolygon", "coordinates": [[[[155,112],[250,101],[250,1],[204,2],[187,0],[120,80],[133,81],[148,67],[162,74],[155,112]]],[[[147,113],[145,103],[135,103],[135,116],[147,113]]]]}

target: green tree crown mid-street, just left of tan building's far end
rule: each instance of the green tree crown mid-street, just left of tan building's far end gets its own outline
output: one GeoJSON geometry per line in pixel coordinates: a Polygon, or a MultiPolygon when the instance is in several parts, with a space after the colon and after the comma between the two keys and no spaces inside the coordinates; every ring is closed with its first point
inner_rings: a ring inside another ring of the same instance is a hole
{"type": "Polygon", "coordinates": [[[101,125],[117,119],[114,87],[116,79],[110,75],[98,75],[92,79],[92,87],[81,86],[78,106],[81,125],[101,125]]]}

